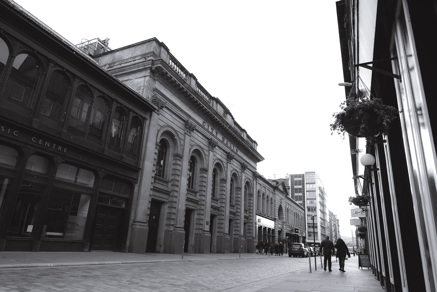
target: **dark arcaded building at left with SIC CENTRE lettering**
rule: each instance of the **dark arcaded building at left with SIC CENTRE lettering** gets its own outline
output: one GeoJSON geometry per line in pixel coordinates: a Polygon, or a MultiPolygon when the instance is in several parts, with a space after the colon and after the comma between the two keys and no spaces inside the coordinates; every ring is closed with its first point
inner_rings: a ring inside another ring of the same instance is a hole
{"type": "Polygon", "coordinates": [[[0,1],[0,251],[125,250],[156,109],[0,1]]]}

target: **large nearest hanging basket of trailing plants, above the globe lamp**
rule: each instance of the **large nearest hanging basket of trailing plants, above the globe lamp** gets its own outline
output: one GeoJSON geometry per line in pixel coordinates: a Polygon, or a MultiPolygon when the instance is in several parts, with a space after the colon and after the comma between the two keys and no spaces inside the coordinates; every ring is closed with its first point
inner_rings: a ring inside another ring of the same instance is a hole
{"type": "Polygon", "coordinates": [[[360,101],[345,101],[346,107],[333,114],[334,122],[330,124],[331,135],[337,132],[343,136],[371,137],[380,133],[388,134],[392,121],[399,111],[385,105],[379,98],[364,98],[360,101]],[[354,124],[351,126],[351,124],[354,124]]]}

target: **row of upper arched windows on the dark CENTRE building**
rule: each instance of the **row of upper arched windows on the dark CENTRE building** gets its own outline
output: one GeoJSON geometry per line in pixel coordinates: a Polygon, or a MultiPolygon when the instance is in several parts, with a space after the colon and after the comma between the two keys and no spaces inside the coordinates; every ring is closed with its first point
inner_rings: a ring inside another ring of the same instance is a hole
{"type": "Polygon", "coordinates": [[[121,107],[115,107],[111,117],[108,100],[104,96],[94,97],[83,81],[76,80],[79,82],[73,86],[65,70],[44,72],[42,62],[31,53],[21,53],[14,58],[0,38],[0,73],[3,71],[8,77],[0,80],[5,84],[0,105],[40,117],[42,122],[55,128],[65,127],[69,133],[94,143],[104,144],[108,140],[111,150],[133,159],[137,157],[141,119],[129,118],[121,107]],[[44,77],[44,73],[47,76],[44,77]]]}

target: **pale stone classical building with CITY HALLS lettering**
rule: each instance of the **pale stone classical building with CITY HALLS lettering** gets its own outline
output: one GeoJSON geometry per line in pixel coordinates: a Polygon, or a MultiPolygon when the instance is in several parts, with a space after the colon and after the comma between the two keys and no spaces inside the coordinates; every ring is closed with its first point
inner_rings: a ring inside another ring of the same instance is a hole
{"type": "Polygon", "coordinates": [[[128,251],[254,252],[257,143],[156,38],[94,59],[159,109],[147,123],[128,251]]]}

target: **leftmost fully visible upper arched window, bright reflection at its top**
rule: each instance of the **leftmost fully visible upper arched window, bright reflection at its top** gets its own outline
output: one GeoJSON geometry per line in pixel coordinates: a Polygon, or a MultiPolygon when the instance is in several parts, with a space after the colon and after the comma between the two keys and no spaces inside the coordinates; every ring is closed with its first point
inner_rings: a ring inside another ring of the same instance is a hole
{"type": "Polygon", "coordinates": [[[30,108],[40,75],[41,66],[33,56],[18,55],[12,64],[3,96],[30,108]]]}

